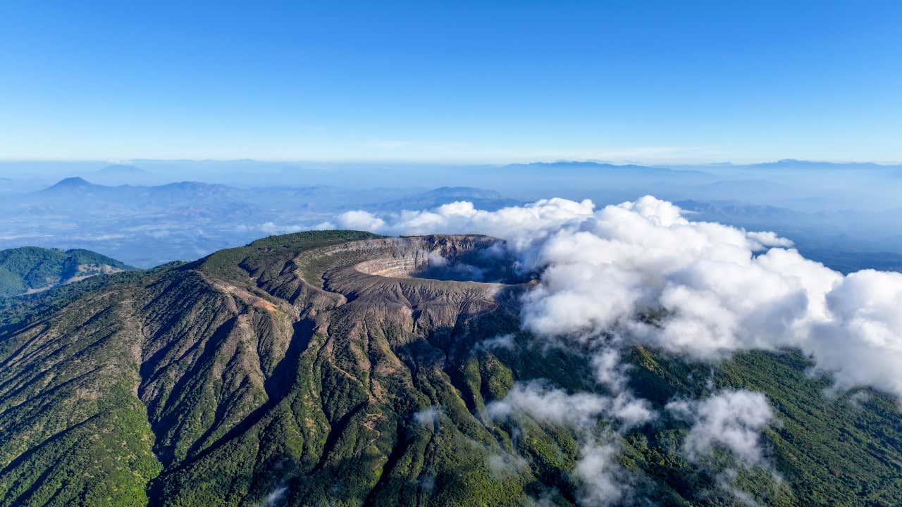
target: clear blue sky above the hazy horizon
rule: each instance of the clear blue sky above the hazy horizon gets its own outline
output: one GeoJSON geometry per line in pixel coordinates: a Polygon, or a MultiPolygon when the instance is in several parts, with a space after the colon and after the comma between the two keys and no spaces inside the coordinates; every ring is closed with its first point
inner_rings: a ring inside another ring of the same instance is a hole
{"type": "Polygon", "coordinates": [[[902,161],[902,2],[329,4],[7,0],[0,158],[902,161]]]}

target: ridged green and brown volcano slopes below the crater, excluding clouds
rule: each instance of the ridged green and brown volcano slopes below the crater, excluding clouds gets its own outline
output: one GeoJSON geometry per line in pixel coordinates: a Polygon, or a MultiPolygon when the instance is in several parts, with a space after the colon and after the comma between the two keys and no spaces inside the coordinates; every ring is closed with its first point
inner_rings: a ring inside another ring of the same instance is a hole
{"type": "MultiPolygon", "coordinates": [[[[380,278],[392,246],[356,232],[273,236],[196,263],[120,273],[0,318],[0,506],[574,505],[581,440],[485,406],[517,381],[599,391],[587,355],[519,332],[520,287],[380,278]],[[482,339],[513,333],[515,346],[482,339]]],[[[64,291],[60,291],[63,290],[64,291]]],[[[742,505],[680,451],[675,398],[764,392],[779,479],[767,505],[902,503],[902,419],[878,392],[829,394],[793,351],[687,363],[635,347],[631,389],[659,411],[619,436],[627,502],[742,505]]],[[[603,434],[607,423],[599,422],[603,434]]]]}

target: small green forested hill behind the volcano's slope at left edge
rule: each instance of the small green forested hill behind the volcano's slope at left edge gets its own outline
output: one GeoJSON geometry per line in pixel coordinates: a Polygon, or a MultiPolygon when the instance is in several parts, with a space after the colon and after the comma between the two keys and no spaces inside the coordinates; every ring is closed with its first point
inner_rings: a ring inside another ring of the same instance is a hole
{"type": "Polygon", "coordinates": [[[38,246],[0,250],[0,297],[40,292],[98,274],[133,269],[90,250],[64,252],[38,246]]]}

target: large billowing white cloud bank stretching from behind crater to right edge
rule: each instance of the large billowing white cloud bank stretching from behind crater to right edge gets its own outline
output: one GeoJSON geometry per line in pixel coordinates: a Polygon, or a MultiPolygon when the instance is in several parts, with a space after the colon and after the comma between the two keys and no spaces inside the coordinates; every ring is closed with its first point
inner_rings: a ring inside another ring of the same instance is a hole
{"type": "Polygon", "coordinates": [[[342,226],[384,234],[482,233],[507,240],[538,284],[523,326],[589,342],[604,333],[710,360],[797,347],[840,387],[902,396],[902,275],[843,276],[772,232],[687,219],[650,196],[596,209],[542,199],[497,211],[456,202],[391,217],[349,212],[342,226]]]}

